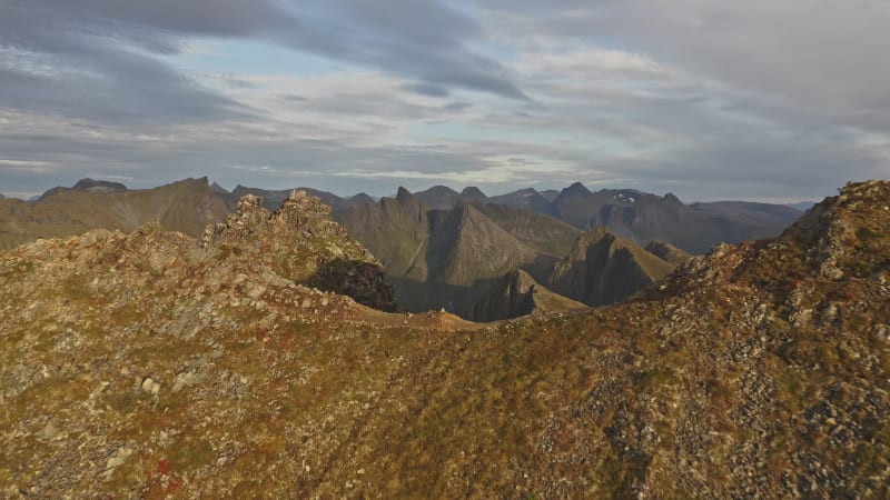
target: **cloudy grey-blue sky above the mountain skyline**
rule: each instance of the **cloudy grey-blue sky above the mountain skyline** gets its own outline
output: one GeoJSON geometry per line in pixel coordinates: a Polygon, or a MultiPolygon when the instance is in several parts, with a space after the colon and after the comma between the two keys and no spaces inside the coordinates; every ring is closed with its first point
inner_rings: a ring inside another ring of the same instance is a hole
{"type": "Polygon", "coordinates": [[[817,200],[890,178],[886,0],[0,0],[0,192],[817,200]]]}

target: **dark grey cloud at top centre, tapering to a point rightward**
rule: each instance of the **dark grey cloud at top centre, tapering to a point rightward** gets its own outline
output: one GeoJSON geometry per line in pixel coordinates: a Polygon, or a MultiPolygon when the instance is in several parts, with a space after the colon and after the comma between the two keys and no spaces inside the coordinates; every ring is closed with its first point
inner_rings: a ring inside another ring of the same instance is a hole
{"type": "Polygon", "coordinates": [[[301,1],[293,14],[293,29],[270,33],[277,42],[412,78],[415,90],[445,96],[459,88],[528,100],[507,68],[472,49],[482,27],[446,2],[301,1]]]}

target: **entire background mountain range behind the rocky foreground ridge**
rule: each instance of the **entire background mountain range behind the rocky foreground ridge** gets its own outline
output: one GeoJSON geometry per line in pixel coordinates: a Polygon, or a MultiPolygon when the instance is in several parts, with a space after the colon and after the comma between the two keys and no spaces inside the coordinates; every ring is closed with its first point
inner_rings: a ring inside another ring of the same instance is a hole
{"type": "MultiPolygon", "coordinates": [[[[474,321],[616,302],[691,253],[774,236],[800,216],[784,206],[685,206],[672,194],[591,192],[581,183],[491,198],[477,188],[399,188],[377,202],[364,193],[301,190],[329,206],[333,218],[380,259],[398,308],[444,309],[474,321]]],[[[149,190],[83,179],[32,202],[0,201],[0,248],[96,228],[132,231],[151,221],[198,237],[246,196],[275,210],[289,193],[244,186],[229,192],[206,178],[149,190]]]]}

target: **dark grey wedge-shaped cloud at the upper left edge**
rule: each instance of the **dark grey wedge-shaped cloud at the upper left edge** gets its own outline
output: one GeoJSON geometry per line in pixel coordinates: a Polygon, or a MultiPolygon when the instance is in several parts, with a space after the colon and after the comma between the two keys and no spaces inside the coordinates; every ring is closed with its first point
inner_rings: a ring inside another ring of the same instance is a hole
{"type": "MultiPolygon", "coordinates": [[[[68,7],[68,6],[67,6],[68,7]]],[[[86,16],[86,14],[85,14],[86,16]]],[[[0,107],[128,126],[243,117],[248,110],[199,87],[139,46],[165,38],[13,2],[0,20],[0,107]]]]}

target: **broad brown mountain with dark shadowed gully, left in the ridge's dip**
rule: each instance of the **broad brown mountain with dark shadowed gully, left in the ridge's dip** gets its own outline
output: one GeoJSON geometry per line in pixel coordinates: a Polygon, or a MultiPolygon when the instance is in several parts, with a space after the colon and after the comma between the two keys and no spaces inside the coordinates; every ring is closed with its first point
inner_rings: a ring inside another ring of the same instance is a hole
{"type": "Polygon", "coordinates": [[[395,199],[336,217],[384,261],[402,308],[444,308],[474,321],[500,320],[511,317],[505,311],[523,310],[497,299],[505,292],[502,279],[520,270],[546,279],[578,232],[508,207],[459,201],[449,210],[434,210],[405,189],[395,199]]]}

